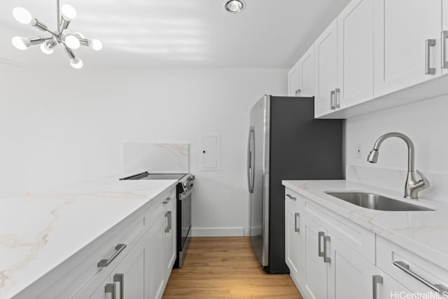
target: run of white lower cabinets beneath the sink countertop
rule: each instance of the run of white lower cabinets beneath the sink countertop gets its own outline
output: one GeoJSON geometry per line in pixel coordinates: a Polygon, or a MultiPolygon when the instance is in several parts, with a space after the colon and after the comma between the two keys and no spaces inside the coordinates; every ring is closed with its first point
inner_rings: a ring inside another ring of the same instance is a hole
{"type": "Polygon", "coordinates": [[[395,259],[409,263],[423,279],[447,285],[448,272],[437,265],[288,188],[285,200],[286,264],[303,298],[410,298],[400,296],[431,291],[395,267],[395,259]]]}

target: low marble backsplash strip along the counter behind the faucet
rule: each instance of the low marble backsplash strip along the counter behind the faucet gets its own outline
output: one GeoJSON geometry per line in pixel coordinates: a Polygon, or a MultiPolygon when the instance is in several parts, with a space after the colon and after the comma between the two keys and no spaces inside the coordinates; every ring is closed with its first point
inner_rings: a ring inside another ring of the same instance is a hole
{"type": "MultiPolygon", "coordinates": [[[[430,182],[429,188],[419,193],[420,198],[448,202],[448,174],[421,171],[430,182]]],[[[346,165],[346,180],[365,183],[404,193],[407,170],[360,165],[346,165]]],[[[416,174],[416,178],[419,175],[416,174]]]]}

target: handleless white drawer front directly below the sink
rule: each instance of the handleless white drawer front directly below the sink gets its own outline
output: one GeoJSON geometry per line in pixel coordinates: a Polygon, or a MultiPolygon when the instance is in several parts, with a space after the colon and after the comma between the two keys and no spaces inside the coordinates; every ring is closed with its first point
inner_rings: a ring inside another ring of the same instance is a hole
{"type": "Polygon", "coordinates": [[[373,232],[310,201],[305,203],[304,213],[317,218],[321,223],[326,223],[323,225],[328,228],[329,235],[335,235],[360,256],[372,264],[375,263],[375,235],[373,232]]]}

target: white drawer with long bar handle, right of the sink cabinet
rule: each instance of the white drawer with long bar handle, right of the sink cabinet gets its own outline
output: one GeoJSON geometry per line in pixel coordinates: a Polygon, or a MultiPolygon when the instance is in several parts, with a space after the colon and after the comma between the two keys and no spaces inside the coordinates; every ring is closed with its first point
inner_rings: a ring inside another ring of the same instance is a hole
{"type": "Polygon", "coordinates": [[[377,236],[377,267],[413,293],[432,291],[422,281],[419,281],[418,277],[425,279],[430,284],[442,284],[448,290],[447,270],[379,236],[377,236]],[[408,271],[412,273],[405,272],[399,266],[408,267],[408,271]]]}

